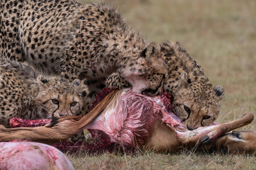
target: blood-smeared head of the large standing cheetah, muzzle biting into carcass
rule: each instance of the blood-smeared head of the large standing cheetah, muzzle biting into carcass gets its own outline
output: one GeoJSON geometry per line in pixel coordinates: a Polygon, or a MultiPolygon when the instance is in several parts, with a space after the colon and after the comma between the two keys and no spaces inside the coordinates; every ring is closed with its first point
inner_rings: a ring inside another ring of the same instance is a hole
{"type": "Polygon", "coordinates": [[[151,43],[136,61],[120,69],[121,77],[130,82],[133,91],[139,94],[155,96],[163,89],[167,78],[167,67],[161,55],[161,46],[151,43]]]}

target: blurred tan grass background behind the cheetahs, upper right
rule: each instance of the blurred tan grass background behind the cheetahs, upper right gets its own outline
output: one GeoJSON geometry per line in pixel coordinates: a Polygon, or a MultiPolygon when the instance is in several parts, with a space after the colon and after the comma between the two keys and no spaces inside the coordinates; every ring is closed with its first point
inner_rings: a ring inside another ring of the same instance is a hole
{"type": "MultiPolygon", "coordinates": [[[[256,113],[256,1],[108,2],[148,40],[179,41],[213,86],[225,88],[218,122],[256,113]]],[[[244,129],[255,129],[255,125],[254,121],[244,129]]]]}

